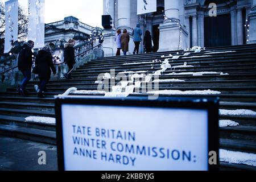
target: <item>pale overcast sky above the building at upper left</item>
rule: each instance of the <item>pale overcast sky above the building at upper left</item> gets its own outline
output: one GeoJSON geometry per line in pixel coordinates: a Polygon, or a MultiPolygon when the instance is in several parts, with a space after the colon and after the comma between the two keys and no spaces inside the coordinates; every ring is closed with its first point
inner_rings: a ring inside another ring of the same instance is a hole
{"type": "MultiPolygon", "coordinates": [[[[6,0],[0,0],[6,2],[6,0]]],[[[27,9],[27,0],[18,0],[27,9]]],[[[63,20],[66,16],[75,16],[82,23],[93,27],[101,26],[103,0],[45,0],[45,22],[52,23],[63,20]]]]}

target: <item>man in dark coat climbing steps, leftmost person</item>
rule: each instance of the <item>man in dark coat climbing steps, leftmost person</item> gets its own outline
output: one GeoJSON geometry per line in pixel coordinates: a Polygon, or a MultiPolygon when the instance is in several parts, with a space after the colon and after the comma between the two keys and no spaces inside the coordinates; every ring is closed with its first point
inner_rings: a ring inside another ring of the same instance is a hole
{"type": "Polygon", "coordinates": [[[32,68],[32,48],[34,47],[34,42],[29,40],[27,43],[24,43],[22,50],[19,52],[18,56],[18,68],[22,72],[24,78],[22,85],[18,87],[17,91],[20,95],[26,96],[25,89],[27,82],[31,79],[31,68],[32,68]]]}

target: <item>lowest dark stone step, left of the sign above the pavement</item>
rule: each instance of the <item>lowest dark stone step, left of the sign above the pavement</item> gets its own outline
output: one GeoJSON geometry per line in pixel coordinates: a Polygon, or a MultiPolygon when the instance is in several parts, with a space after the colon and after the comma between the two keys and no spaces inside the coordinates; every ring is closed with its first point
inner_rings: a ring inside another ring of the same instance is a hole
{"type": "Polygon", "coordinates": [[[22,126],[0,125],[0,135],[56,145],[55,131],[32,129],[22,126]]]}

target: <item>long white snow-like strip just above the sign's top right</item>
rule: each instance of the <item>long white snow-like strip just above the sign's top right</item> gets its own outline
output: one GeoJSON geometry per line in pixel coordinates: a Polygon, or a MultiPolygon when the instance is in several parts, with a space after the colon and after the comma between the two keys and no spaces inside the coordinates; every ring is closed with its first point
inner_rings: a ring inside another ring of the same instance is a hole
{"type": "Polygon", "coordinates": [[[147,92],[148,94],[168,94],[168,95],[211,95],[211,94],[221,94],[221,92],[213,90],[158,90],[147,92]]]}

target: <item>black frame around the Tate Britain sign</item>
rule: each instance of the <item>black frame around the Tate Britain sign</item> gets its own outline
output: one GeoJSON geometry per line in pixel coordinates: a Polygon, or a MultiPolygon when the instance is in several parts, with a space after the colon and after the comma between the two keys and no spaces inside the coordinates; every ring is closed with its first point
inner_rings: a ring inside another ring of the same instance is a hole
{"type": "MultiPolygon", "coordinates": [[[[209,171],[218,171],[219,163],[219,127],[218,127],[218,97],[193,97],[174,96],[159,97],[158,100],[148,100],[148,97],[108,98],[98,96],[65,96],[56,97],[56,138],[57,159],[60,171],[65,171],[64,148],[63,148],[63,126],[62,126],[62,104],[74,105],[102,105],[102,106],[132,106],[132,107],[163,107],[172,109],[204,109],[208,111],[208,152],[216,151],[217,164],[208,164],[209,171]]],[[[210,156],[209,156],[210,157],[210,156]]]]}

